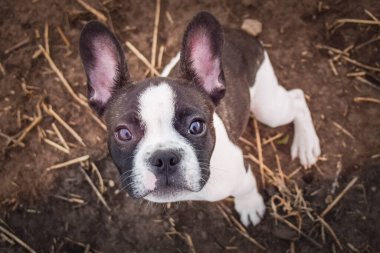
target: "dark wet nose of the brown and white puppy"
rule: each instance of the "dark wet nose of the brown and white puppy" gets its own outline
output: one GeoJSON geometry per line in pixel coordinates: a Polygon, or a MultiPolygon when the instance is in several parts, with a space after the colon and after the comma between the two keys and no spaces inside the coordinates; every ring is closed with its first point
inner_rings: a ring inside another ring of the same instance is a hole
{"type": "Polygon", "coordinates": [[[153,153],[150,164],[156,169],[158,174],[172,174],[177,170],[177,165],[181,160],[180,154],[173,150],[159,150],[153,153]]]}

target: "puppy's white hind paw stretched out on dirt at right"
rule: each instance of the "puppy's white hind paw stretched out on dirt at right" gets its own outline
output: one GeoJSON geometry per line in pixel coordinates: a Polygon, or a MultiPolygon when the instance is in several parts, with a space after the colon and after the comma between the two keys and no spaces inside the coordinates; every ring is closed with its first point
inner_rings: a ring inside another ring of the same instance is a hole
{"type": "Polygon", "coordinates": [[[319,139],[313,123],[296,126],[291,147],[292,159],[299,157],[301,164],[309,168],[317,162],[320,154],[319,139]]]}

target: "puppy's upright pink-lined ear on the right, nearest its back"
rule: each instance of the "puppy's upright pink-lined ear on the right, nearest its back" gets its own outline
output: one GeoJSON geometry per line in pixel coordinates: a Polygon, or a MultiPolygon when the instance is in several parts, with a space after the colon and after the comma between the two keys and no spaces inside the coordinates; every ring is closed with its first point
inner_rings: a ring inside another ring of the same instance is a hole
{"type": "Polygon", "coordinates": [[[218,20],[208,12],[200,12],[186,28],[180,57],[183,77],[200,85],[216,104],[226,90],[222,69],[223,42],[223,30],[218,20]]]}

